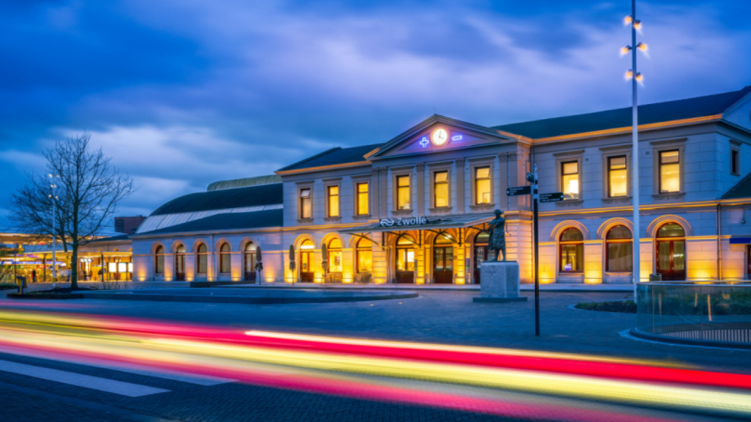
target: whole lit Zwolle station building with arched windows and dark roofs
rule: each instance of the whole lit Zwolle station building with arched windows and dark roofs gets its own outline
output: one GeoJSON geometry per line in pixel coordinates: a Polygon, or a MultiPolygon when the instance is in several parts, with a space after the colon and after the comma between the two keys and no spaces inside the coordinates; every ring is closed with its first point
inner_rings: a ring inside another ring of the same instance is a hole
{"type": "Polygon", "coordinates": [[[430,116],[394,139],[329,149],[274,176],[218,182],[131,235],[134,280],[477,284],[487,222],[532,282],[537,165],[544,283],[748,279],[751,87],[640,107],[641,227],[630,109],[486,127],[430,116]],[[258,256],[258,253],[261,256],[258,256]],[[256,263],[263,270],[256,270],[256,263]]]}

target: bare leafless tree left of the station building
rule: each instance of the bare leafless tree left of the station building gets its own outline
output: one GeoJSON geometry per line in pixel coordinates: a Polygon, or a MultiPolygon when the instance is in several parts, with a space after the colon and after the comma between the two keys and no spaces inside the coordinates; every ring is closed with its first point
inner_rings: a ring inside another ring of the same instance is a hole
{"type": "Polygon", "coordinates": [[[71,249],[71,288],[75,289],[78,248],[112,222],[118,203],[134,192],[133,180],[120,174],[101,148],[92,148],[87,133],[57,141],[44,151],[44,158],[48,174],[29,174],[29,184],[11,199],[11,220],[29,234],[54,232],[65,252],[71,249]],[[50,185],[56,185],[54,195],[50,185]]]}

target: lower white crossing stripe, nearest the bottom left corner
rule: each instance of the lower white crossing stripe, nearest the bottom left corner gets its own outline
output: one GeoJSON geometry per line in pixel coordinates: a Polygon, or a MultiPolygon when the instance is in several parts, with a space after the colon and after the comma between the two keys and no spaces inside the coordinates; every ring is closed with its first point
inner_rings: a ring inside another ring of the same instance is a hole
{"type": "Polygon", "coordinates": [[[0,371],[46,379],[47,381],[62,382],[63,384],[76,385],[77,387],[91,388],[92,390],[106,391],[107,393],[115,393],[128,397],[148,396],[149,394],[167,393],[170,391],[146,385],[60,371],[58,369],[9,362],[8,360],[0,360],[0,371]]]}

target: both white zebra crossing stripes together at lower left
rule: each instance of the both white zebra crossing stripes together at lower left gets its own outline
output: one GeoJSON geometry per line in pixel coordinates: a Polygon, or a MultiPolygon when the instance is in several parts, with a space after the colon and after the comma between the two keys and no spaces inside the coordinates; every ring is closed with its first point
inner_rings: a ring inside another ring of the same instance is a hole
{"type": "MultiPolygon", "coordinates": [[[[110,360],[77,357],[71,355],[61,356],[49,352],[26,348],[17,348],[7,345],[0,345],[0,353],[14,354],[23,357],[36,357],[46,360],[56,360],[66,363],[75,363],[82,366],[91,366],[99,369],[127,372],[134,375],[145,375],[152,378],[162,378],[170,381],[179,381],[186,384],[195,384],[205,387],[235,381],[229,378],[220,378],[210,375],[195,375],[188,372],[180,372],[175,370],[157,370],[152,367],[136,363],[122,363],[110,360]]],[[[74,385],[77,387],[84,387],[92,390],[99,390],[128,397],[149,396],[152,394],[170,392],[170,390],[166,390],[164,388],[150,387],[143,384],[117,381],[99,376],[83,375],[71,371],[52,369],[44,366],[30,365],[27,363],[17,363],[11,360],[0,359],[0,378],[2,378],[3,372],[10,372],[17,375],[25,375],[46,381],[55,381],[62,384],[74,385]]]]}

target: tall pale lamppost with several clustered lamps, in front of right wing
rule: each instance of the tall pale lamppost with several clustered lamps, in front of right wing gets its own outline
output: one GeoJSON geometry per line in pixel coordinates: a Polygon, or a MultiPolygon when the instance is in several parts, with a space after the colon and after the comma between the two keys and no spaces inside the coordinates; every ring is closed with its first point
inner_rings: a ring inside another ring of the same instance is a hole
{"type": "Polygon", "coordinates": [[[624,20],[626,25],[631,26],[631,45],[623,47],[621,54],[631,52],[631,70],[626,72],[626,79],[631,80],[633,104],[632,104],[632,170],[631,170],[631,189],[632,202],[634,204],[634,246],[633,246],[633,279],[634,279],[634,300],[636,300],[636,283],[641,280],[641,266],[639,259],[641,257],[641,224],[639,219],[639,110],[637,105],[637,84],[644,80],[638,71],[636,71],[636,50],[647,51],[647,44],[636,44],[636,32],[641,29],[641,20],[636,19],[636,0],[631,0],[631,16],[624,20]]]}

